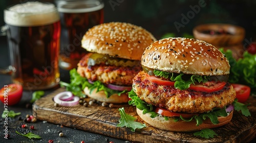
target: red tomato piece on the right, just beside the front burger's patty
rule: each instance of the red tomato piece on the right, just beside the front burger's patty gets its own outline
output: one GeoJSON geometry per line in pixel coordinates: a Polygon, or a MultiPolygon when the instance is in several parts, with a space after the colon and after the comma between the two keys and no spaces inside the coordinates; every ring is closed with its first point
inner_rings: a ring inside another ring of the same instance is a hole
{"type": "Polygon", "coordinates": [[[237,93],[238,102],[241,102],[241,103],[246,102],[250,96],[251,88],[247,85],[236,84],[236,83],[232,83],[231,85],[234,87],[234,90],[237,93]]]}

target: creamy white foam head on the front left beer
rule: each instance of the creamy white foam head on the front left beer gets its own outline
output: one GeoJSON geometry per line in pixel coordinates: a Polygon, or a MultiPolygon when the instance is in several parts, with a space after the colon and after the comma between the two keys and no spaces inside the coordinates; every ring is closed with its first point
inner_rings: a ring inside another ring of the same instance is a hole
{"type": "Polygon", "coordinates": [[[4,20],[12,26],[42,26],[59,20],[53,4],[27,2],[4,10],[4,20]]]}

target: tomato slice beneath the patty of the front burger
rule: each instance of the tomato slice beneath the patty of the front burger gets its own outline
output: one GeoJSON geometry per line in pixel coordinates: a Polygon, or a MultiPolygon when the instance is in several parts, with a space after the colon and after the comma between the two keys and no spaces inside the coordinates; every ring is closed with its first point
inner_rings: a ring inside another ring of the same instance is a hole
{"type": "Polygon", "coordinates": [[[182,116],[185,118],[193,117],[194,115],[199,115],[199,114],[186,114],[186,113],[177,113],[177,112],[171,112],[169,110],[163,109],[156,107],[155,112],[158,114],[161,114],[163,116],[182,116]]]}

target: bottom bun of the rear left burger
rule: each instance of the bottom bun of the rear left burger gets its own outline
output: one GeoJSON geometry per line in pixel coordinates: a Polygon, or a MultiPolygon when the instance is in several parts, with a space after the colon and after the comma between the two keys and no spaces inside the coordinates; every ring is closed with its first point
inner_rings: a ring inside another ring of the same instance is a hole
{"type": "Polygon", "coordinates": [[[83,91],[86,93],[86,95],[92,99],[95,99],[100,102],[106,102],[106,103],[127,103],[129,101],[129,97],[127,93],[122,93],[120,96],[118,94],[113,94],[109,98],[106,98],[106,94],[104,91],[98,91],[97,89],[94,89],[92,93],[90,94],[90,90],[88,87],[84,88],[83,91]]]}

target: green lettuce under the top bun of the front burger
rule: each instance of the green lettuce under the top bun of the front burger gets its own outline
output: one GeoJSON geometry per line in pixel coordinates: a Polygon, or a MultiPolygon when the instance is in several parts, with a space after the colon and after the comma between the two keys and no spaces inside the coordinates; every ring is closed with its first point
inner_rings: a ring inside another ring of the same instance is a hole
{"type": "MultiPolygon", "coordinates": [[[[200,75],[191,75],[189,78],[186,78],[184,80],[181,74],[174,74],[174,73],[168,73],[166,71],[160,71],[154,69],[154,74],[158,77],[163,77],[165,79],[170,79],[171,81],[175,81],[174,87],[178,88],[180,90],[185,90],[190,87],[190,84],[200,83],[200,82],[207,82],[210,79],[210,76],[200,76],[200,75]]],[[[188,76],[188,75],[186,75],[188,76]]]]}

